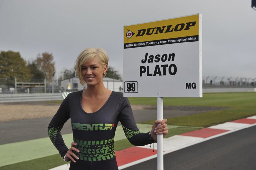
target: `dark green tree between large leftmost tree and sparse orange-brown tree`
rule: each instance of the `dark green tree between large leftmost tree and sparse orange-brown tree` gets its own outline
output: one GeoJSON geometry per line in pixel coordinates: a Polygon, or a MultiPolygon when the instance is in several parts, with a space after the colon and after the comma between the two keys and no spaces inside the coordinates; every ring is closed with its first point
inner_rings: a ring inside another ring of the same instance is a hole
{"type": "Polygon", "coordinates": [[[32,82],[44,82],[44,73],[40,71],[36,66],[36,60],[27,63],[28,68],[30,69],[30,74],[32,75],[32,82]]]}

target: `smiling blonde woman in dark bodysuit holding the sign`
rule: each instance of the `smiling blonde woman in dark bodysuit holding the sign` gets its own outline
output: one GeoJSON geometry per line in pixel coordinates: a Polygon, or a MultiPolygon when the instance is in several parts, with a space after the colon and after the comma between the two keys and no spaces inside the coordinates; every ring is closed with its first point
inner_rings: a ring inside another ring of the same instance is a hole
{"type": "Polygon", "coordinates": [[[132,109],[123,93],[106,89],[103,77],[108,70],[108,56],[101,48],[87,48],[77,57],[76,72],[87,89],[70,93],[60,105],[48,127],[48,134],[70,169],[118,170],[114,152],[114,135],[121,122],[128,140],[136,146],[157,141],[157,134],[168,133],[166,119],[155,121],[151,132],[141,133],[132,109]],[[74,142],[68,149],[60,130],[71,118],[74,142]]]}

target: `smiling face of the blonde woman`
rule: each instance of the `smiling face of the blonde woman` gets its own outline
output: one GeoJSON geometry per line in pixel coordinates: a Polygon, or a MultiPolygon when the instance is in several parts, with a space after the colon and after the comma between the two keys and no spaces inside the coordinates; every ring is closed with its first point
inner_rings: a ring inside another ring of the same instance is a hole
{"type": "Polygon", "coordinates": [[[87,63],[82,64],[81,73],[87,86],[95,86],[103,83],[103,73],[107,71],[107,65],[102,67],[98,57],[94,57],[87,63]]]}

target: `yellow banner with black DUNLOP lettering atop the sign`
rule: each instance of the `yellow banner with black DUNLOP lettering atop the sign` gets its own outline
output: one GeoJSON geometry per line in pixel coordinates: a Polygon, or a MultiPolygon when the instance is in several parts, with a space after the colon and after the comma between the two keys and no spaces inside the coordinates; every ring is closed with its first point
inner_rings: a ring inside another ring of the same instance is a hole
{"type": "Polygon", "coordinates": [[[124,44],[195,36],[199,33],[199,14],[124,26],[124,44]]]}

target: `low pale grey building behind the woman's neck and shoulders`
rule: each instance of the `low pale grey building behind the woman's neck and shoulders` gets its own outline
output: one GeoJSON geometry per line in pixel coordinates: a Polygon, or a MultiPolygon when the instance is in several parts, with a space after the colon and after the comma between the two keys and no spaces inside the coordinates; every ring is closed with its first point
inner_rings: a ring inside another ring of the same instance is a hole
{"type": "MultiPolygon", "coordinates": [[[[80,84],[78,77],[62,80],[60,84],[62,91],[69,91],[68,87],[70,87],[70,91],[80,91],[87,88],[87,84],[85,87],[80,84]]],[[[105,77],[103,78],[103,84],[109,90],[123,91],[123,81],[105,77]]]]}

